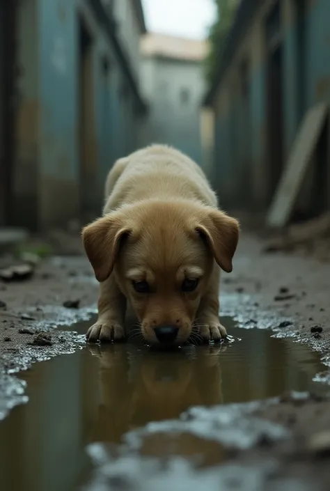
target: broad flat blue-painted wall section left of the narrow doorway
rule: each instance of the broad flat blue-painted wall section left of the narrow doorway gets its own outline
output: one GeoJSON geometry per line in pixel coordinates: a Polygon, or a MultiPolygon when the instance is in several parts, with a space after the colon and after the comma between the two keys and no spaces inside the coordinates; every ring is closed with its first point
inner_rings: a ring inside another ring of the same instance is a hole
{"type": "Polygon", "coordinates": [[[39,16],[40,220],[56,224],[78,212],[75,3],[39,1],[39,16]]]}

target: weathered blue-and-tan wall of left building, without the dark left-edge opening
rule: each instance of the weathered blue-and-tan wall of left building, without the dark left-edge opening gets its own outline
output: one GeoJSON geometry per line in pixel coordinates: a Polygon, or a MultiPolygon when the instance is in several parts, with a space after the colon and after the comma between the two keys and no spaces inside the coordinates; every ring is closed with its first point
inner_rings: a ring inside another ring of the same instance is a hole
{"type": "MultiPolygon", "coordinates": [[[[22,70],[17,79],[15,223],[47,228],[99,215],[104,177],[116,158],[136,146],[137,95],[92,2],[28,0],[19,3],[17,15],[22,70]],[[81,25],[91,39],[84,66],[81,25]]],[[[130,33],[132,49],[123,49],[138,84],[133,46],[139,47],[140,30],[130,2],[120,22],[130,33]]]]}

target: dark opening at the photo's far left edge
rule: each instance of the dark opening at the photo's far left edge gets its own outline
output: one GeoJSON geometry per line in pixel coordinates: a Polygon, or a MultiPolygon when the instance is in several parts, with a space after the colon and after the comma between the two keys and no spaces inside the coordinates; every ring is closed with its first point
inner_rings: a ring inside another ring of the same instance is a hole
{"type": "Polygon", "coordinates": [[[15,135],[15,0],[0,0],[0,225],[10,224],[15,135]]]}

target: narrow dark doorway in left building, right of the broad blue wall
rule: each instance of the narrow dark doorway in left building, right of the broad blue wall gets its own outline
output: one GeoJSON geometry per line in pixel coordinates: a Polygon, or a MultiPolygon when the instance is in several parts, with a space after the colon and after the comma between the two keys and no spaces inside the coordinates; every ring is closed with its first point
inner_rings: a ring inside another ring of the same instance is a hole
{"type": "Polygon", "coordinates": [[[82,221],[91,212],[91,180],[95,166],[93,147],[93,39],[84,21],[79,22],[79,160],[80,160],[80,214],[82,221]]]}

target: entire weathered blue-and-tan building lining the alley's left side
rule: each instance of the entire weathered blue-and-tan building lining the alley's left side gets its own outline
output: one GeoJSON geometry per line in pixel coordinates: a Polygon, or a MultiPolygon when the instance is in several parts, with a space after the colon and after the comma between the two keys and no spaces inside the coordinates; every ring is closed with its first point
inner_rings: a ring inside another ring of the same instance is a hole
{"type": "Polygon", "coordinates": [[[0,0],[0,20],[0,223],[100,213],[104,176],[136,147],[145,110],[141,0],[0,0]]]}

